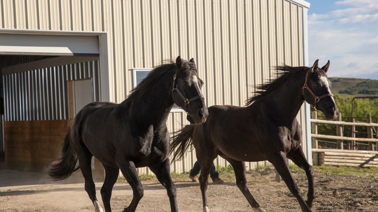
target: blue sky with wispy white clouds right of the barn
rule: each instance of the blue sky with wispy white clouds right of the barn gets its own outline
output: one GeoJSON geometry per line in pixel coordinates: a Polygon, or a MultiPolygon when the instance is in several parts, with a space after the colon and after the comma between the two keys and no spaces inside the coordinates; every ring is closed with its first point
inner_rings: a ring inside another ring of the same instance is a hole
{"type": "Polygon", "coordinates": [[[378,79],[378,0],[307,0],[309,65],[329,77],[378,79]]]}

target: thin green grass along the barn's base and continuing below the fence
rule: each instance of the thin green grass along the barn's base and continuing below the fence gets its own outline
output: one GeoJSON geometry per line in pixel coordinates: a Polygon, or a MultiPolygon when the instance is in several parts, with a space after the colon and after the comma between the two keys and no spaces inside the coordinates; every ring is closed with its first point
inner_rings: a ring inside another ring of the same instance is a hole
{"type": "MultiPolygon", "coordinates": [[[[273,165],[267,166],[258,166],[256,170],[247,171],[247,175],[251,173],[264,173],[267,170],[273,169],[273,165]]],[[[305,171],[299,168],[296,165],[289,165],[290,170],[293,173],[302,173],[305,174],[305,171]]],[[[313,166],[315,173],[328,173],[331,175],[344,175],[344,176],[355,176],[355,177],[378,177],[378,168],[377,167],[368,167],[368,168],[359,168],[359,167],[349,167],[349,166],[313,166]]],[[[219,172],[220,177],[226,182],[234,182],[235,181],[235,174],[234,170],[231,165],[226,167],[217,166],[215,168],[217,172],[219,172]]],[[[141,181],[149,181],[149,180],[157,180],[154,175],[139,175],[138,176],[141,181]]],[[[179,179],[187,179],[189,180],[189,173],[171,173],[171,177],[173,180],[179,179]]],[[[117,180],[118,183],[126,183],[126,179],[124,177],[119,177],[117,180]]],[[[248,184],[258,183],[258,181],[248,181],[248,184]]]]}

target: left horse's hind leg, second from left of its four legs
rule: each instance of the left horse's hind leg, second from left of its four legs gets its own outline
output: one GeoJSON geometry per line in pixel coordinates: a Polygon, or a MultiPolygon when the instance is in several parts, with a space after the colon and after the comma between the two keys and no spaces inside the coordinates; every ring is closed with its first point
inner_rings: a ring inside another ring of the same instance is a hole
{"type": "Polygon", "coordinates": [[[103,197],[103,207],[105,208],[105,212],[111,212],[110,197],[112,196],[112,189],[117,181],[120,169],[105,164],[103,164],[103,168],[105,169],[105,180],[103,182],[103,187],[101,188],[101,196],[103,197]]]}

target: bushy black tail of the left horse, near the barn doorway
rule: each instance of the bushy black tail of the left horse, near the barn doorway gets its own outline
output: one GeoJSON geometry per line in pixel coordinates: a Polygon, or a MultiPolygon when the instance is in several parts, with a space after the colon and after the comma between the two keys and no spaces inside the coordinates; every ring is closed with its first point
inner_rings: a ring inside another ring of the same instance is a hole
{"type": "Polygon", "coordinates": [[[63,144],[62,158],[50,164],[48,174],[53,180],[61,180],[69,177],[79,168],[77,156],[69,145],[69,133],[67,133],[63,144]]]}

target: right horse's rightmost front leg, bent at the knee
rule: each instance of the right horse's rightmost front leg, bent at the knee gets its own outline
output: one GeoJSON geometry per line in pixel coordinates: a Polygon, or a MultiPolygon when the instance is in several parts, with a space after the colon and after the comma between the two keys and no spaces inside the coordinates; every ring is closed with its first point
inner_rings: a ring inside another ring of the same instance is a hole
{"type": "Polygon", "coordinates": [[[297,148],[288,155],[289,159],[299,167],[301,167],[306,172],[307,179],[309,181],[309,192],[307,193],[307,205],[312,208],[312,201],[315,198],[314,194],[314,170],[307,161],[305,154],[303,153],[302,147],[297,148]]]}

